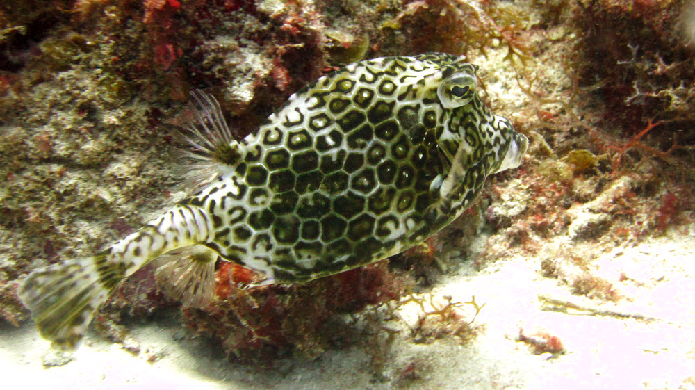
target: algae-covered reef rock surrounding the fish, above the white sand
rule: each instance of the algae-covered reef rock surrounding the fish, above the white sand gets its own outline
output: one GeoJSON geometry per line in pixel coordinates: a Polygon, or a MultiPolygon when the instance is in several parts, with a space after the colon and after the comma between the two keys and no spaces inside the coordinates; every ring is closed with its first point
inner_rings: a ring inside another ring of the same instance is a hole
{"type": "MultiPolygon", "coordinates": [[[[517,91],[491,105],[532,139],[523,165],[489,179],[451,227],[391,259],[398,272],[383,261],[301,286],[250,287],[257,275],[220,261],[217,301],[183,309],[186,325],[242,361],[313,358],[354,343],[343,314],[402,302],[409,279],[427,291],[447,266],[480,269],[516,255],[546,256],[539,274],[576,295],[629,299],[621,286],[630,280],[596,275],[594,260],[606,248],[684,231],[695,207],[687,190],[695,67],[692,42],[678,35],[680,10],[679,1],[651,0],[349,9],[336,1],[8,1],[0,5],[0,179],[11,196],[0,197],[0,317],[27,318],[15,290],[29,270],[92,254],[181,199],[185,188],[170,174],[181,145],[167,118],[189,90],[213,93],[243,138],[346,61],[424,51],[486,61],[489,99],[517,91]]],[[[120,286],[102,322],[173,304],[143,270],[120,286]]],[[[425,316],[418,340],[475,333],[462,323],[425,316]]],[[[523,337],[534,353],[562,351],[547,332],[523,337]]],[[[403,380],[423,376],[422,367],[404,366],[403,380]]]]}

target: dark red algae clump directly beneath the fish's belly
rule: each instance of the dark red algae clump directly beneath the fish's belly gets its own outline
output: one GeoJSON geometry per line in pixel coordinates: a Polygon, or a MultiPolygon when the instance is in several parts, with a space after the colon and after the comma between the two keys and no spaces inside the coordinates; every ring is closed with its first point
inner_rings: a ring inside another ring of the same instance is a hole
{"type": "Polygon", "coordinates": [[[184,309],[184,318],[190,329],[219,339],[228,355],[256,364],[320,355],[351,334],[338,314],[398,301],[404,283],[384,262],[303,285],[245,286],[253,281],[245,268],[220,263],[218,300],[204,310],[184,309]]]}

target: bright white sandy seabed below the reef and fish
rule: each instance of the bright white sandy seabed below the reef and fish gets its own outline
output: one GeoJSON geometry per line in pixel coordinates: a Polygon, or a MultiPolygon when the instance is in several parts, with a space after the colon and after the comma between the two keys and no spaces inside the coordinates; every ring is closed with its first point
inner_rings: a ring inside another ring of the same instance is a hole
{"type": "MultiPolygon", "coordinates": [[[[695,234],[682,232],[607,252],[596,272],[634,281],[615,304],[572,295],[541,275],[539,259],[480,271],[464,262],[432,294],[459,302],[475,295],[485,304],[475,319],[480,334],[463,345],[418,344],[399,332],[379,378],[363,348],[270,369],[231,363],[209,341],[181,337],[174,311],[128,325],[136,355],[93,332],[73,355],[59,355],[31,324],[3,325],[0,377],[5,389],[695,389],[694,259],[695,234]],[[520,332],[552,334],[565,352],[534,355],[520,332]]],[[[407,323],[416,310],[406,305],[399,315],[407,323]]]]}

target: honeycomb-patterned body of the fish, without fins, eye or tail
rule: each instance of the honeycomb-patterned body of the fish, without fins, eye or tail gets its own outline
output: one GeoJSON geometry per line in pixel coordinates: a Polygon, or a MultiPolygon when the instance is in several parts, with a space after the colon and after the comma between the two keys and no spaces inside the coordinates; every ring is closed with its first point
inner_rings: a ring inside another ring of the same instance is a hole
{"type": "Polygon", "coordinates": [[[429,54],[367,60],[322,77],[243,140],[233,174],[183,204],[213,216],[208,247],[276,282],[401,252],[456,218],[507,152],[511,125],[477,95],[453,110],[438,99],[443,79],[476,69],[429,54]],[[478,163],[450,194],[452,210],[428,218],[439,202],[433,183],[458,147],[444,141],[457,134],[478,163]]]}

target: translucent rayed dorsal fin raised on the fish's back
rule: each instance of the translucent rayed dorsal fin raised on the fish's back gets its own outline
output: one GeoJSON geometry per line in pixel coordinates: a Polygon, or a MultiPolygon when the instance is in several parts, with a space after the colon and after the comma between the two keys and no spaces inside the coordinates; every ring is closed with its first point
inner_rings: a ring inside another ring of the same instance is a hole
{"type": "Polygon", "coordinates": [[[190,97],[192,116],[179,133],[188,147],[179,149],[182,161],[177,171],[195,192],[220,174],[231,172],[241,153],[217,100],[202,90],[193,90],[190,97]]]}

